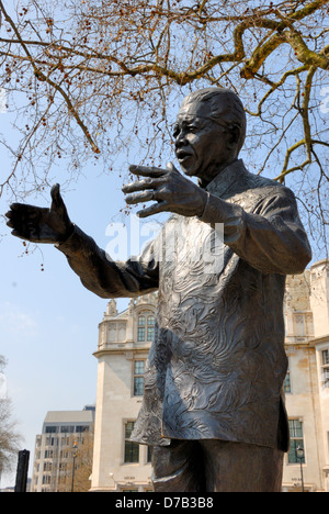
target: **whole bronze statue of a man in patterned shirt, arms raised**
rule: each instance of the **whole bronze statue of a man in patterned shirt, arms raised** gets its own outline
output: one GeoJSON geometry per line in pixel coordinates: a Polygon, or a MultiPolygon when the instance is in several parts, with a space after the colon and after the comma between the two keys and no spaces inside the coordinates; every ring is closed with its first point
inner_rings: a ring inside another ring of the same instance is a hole
{"type": "Polygon", "coordinates": [[[171,212],[167,242],[170,234],[183,234],[185,248],[170,259],[161,258],[158,236],[138,258],[109,260],[70,222],[58,185],[49,210],[14,204],[8,213],[14,235],[55,243],[83,286],[101,298],[159,291],[132,436],[154,447],[155,491],[281,491],[288,448],[281,395],[287,368],[285,276],[302,273],[311,253],[293,192],[250,174],[239,160],[246,124],[243,105],[230,90],[195,91],[174,127],[185,176],[172,164],[131,167],[143,178],[123,188],[127,202],[154,202],[141,217],[171,212]],[[202,255],[190,259],[189,248],[218,223],[224,261],[209,273],[202,255]]]}

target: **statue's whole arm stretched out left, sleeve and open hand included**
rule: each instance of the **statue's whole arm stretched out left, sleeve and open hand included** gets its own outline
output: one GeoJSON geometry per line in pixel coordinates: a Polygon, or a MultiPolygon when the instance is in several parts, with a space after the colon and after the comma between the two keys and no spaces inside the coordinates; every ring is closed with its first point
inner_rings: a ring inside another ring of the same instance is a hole
{"type": "Polygon", "coordinates": [[[154,244],[127,262],[114,262],[95,242],[71,223],[59,185],[50,191],[52,205],[14,203],[7,213],[12,235],[36,244],[55,244],[82,283],[101,298],[134,297],[158,288],[154,244]]]}

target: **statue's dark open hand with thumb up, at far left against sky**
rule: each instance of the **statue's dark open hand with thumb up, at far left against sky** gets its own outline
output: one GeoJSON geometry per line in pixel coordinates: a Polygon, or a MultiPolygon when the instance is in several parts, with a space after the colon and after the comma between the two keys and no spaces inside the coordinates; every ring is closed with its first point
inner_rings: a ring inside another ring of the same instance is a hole
{"type": "Polygon", "coordinates": [[[12,235],[32,243],[63,243],[73,232],[73,225],[67,213],[66,205],[59,192],[59,185],[52,188],[50,209],[13,203],[5,214],[7,225],[12,235]]]}

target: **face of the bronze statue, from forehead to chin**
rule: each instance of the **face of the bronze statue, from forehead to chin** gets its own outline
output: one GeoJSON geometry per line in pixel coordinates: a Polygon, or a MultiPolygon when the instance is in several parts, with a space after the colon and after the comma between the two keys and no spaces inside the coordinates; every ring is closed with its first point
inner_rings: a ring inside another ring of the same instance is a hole
{"type": "MultiPolygon", "coordinates": [[[[224,107],[223,107],[224,108],[224,107]]],[[[173,130],[175,156],[189,177],[212,180],[223,166],[230,164],[231,135],[211,119],[209,107],[203,102],[183,105],[173,130]]]]}

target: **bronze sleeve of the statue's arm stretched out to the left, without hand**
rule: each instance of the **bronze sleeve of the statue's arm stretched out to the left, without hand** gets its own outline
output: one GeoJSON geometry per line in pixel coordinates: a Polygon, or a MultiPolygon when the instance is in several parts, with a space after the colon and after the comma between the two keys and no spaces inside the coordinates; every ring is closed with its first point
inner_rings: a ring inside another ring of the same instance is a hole
{"type": "Polygon", "coordinates": [[[155,244],[126,262],[113,261],[97,243],[75,225],[72,235],[56,247],[66,255],[82,284],[101,298],[138,297],[159,286],[159,266],[155,244]]]}

